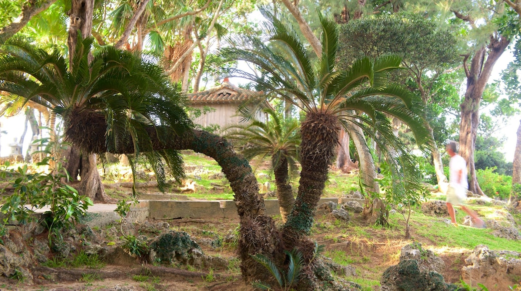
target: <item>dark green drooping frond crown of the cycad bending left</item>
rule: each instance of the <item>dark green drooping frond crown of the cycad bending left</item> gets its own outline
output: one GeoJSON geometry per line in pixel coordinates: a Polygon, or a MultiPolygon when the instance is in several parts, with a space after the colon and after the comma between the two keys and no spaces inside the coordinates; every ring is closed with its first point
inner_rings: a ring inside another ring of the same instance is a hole
{"type": "Polygon", "coordinates": [[[9,40],[0,57],[0,91],[51,108],[63,117],[66,138],[83,151],[143,153],[159,182],[165,180],[163,161],[180,177],[180,155],[158,144],[191,127],[184,97],[152,60],[107,46],[89,62],[92,43],[78,40],[68,68],[58,52],[9,40]]]}

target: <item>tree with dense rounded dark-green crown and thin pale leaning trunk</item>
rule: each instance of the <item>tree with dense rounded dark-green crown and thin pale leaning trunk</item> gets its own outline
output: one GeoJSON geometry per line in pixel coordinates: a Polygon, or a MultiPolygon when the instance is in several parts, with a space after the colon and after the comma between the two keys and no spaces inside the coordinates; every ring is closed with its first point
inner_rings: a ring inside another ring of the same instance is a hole
{"type": "MultiPolygon", "coordinates": [[[[437,28],[436,23],[423,16],[397,13],[368,16],[342,25],[339,47],[339,66],[349,65],[362,56],[377,57],[383,54],[401,56],[406,74],[399,72],[394,78],[403,84],[412,84],[411,90],[421,96],[428,107],[438,106],[435,98],[440,86],[440,76],[445,69],[456,63],[456,40],[448,30],[437,28]]],[[[443,96],[444,99],[450,96],[443,96]]],[[[438,106],[439,107],[439,106],[438,106]]],[[[442,111],[433,112],[443,115],[442,111]]],[[[432,114],[434,115],[434,114],[432,114]]],[[[429,116],[428,120],[437,116],[429,116]]],[[[434,139],[432,125],[428,124],[434,139]]],[[[443,141],[444,142],[444,141],[443,141]]],[[[438,183],[446,183],[441,154],[433,144],[432,160],[438,183]]]]}

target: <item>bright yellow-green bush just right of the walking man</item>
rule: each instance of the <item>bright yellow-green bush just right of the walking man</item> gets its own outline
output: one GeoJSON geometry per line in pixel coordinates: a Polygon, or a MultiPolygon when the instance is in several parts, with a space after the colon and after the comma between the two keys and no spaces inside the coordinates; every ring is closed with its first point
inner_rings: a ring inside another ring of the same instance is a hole
{"type": "Polygon", "coordinates": [[[476,169],[479,186],[488,197],[508,199],[512,192],[512,177],[495,173],[495,169],[476,169]]]}

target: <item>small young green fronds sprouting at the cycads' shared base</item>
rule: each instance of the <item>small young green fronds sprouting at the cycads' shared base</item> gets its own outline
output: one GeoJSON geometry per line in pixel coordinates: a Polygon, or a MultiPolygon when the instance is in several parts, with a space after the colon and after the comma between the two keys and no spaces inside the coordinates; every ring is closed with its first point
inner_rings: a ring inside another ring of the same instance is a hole
{"type": "MultiPolygon", "coordinates": [[[[302,275],[302,265],[304,263],[302,253],[299,250],[293,249],[291,252],[284,251],[288,258],[288,270],[286,273],[281,271],[278,266],[263,256],[262,254],[251,255],[258,263],[262,264],[270,274],[275,278],[281,290],[291,290],[297,283],[299,283],[302,275]]],[[[262,290],[271,290],[271,286],[265,282],[256,281],[252,283],[255,288],[262,290]]]]}

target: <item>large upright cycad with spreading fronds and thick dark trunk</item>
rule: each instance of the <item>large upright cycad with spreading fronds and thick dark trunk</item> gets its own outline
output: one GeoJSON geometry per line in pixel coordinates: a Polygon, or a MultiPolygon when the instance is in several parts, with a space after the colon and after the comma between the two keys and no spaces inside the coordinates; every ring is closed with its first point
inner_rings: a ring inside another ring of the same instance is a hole
{"type": "MultiPolygon", "coordinates": [[[[400,66],[400,58],[385,56],[374,62],[363,58],[349,69],[336,71],[336,24],[320,16],[323,52],[315,64],[289,22],[277,19],[267,9],[261,10],[269,20],[269,44],[244,37],[241,41],[249,43],[250,47],[241,49],[230,46],[222,53],[229,60],[252,63],[263,73],[257,77],[250,72],[234,70],[228,72],[229,75],[256,82],[266,94],[276,93],[306,114],[301,125],[299,192],[295,207],[284,225],[285,237],[288,238],[286,242],[291,246],[295,236],[307,233],[312,226],[329,165],[336,152],[341,126],[351,135],[359,136],[363,131],[382,150],[394,149],[391,152],[395,151],[398,155],[388,155],[388,161],[392,164],[395,178],[403,180],[406,187],[417,185],[414,163],[406,154],[403,143],[393,135],[386,115],[398,117],[410,126],[418,144],[428,140],[428,132],[423,118],[415,113],[419,110],[415,106],[420,104],[415,96],[387,83],[387,72],[400,66]]],[[[363,149],[357,147],[359,152],[363,149]]],[[[375,172],[374,164],[360,162],[362,172],[375,172]]],[[[362,184],[373,185],[374,181],[367,177],[371,176],[362,176],[362,184]]]]}

